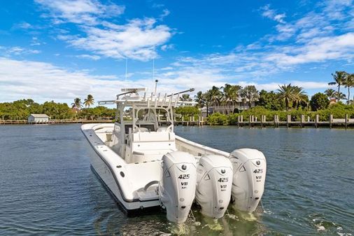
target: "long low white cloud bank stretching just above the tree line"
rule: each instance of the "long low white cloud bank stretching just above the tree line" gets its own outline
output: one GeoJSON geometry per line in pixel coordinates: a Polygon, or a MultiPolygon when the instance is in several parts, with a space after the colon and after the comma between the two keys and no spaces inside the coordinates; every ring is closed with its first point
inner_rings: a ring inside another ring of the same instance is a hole
{"type": "MultiPolygon", "coordinates": [[[[92,75],[89,71],[71,71],[56,67],[46,62],[11,60],[0,57],[0,101],[10,102],[22,98],[32,98],[36,102],[50,101],[71,103],[73,98],[94,95],[96,101],[114,99],[120,88],[143,87],[153,91],[154,81],[150,74],[146,78],[132,80],[129,76],[92,75]]],[[[328,88],[327,82],[280,81],[279,83],[257,83],[250,77],[243,79],[227,75],[220,68],[182,67],[157,70],[155,78],[159,79],[158,91],[177,92],[187,88],[206,91],[213,85],[218,87],[225,83],[255,85],[258,90],[276,90],[278,84],[292,83],[306,89],[328,88]],[[247,79],[245,81],[244,79],[247,79]]]]}

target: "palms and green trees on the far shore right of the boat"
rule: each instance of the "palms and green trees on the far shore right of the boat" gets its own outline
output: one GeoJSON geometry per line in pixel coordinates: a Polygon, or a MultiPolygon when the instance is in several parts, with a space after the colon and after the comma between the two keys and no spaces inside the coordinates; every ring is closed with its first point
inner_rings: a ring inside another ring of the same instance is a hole
{"type": "MultiPolygon", "coordinates": [[[[327,109],[329,104],[339,103],[341,100],[346,100],[346,104],[353,104],[353,99],[350,99],[351,88],[354,87],[354,74],[348,74],[345,71],[336,71],[332,74],[333,80],[328,85],[337,85],[337,91],[329,88],[324,92],[318,92],[309,99],[302,87],[285,84],[278,85],[276,92],[267,92],[266,90],[258,91],[255,85],[225,84],[218,88],[213,86],[206,92],[199,91],[194,96],[194,101],[197,102],[197,107],[206,107],[208,115],[209,107],[223,106],[225,113],[239,113],[236,104],[248,104],[252,106],[263,106],[270,111],[290,111],[290,109],[305,109],[307,111],[318,111],[327,109]],[[347,96],[341,92],[341,86],[348,88],[347,96]]],[[[181,97],[184,101],[192,101],[190,95],[181,97]]]]}

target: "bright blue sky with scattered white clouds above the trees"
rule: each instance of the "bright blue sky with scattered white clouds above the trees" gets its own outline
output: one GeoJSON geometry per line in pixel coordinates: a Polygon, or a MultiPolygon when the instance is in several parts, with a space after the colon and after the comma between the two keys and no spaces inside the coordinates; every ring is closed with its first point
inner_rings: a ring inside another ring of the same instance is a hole
{"type": "MultiPolygon", "coordinates": [[[[354,6],[327,1],[3,1],[0,102],[225,83],[323,92],[354,72],[354,6]],[[155,67],[153,66],[155,64],[155,67]],[[126,67],[127,66],[127,67],[126,67]],[[155,68],[155,69],[153,69],[155,68]],[[127,69],[127,73],[126,73],[127,69]]],[[[343,88],[343,92],[346,89],[343,88]]]]}

